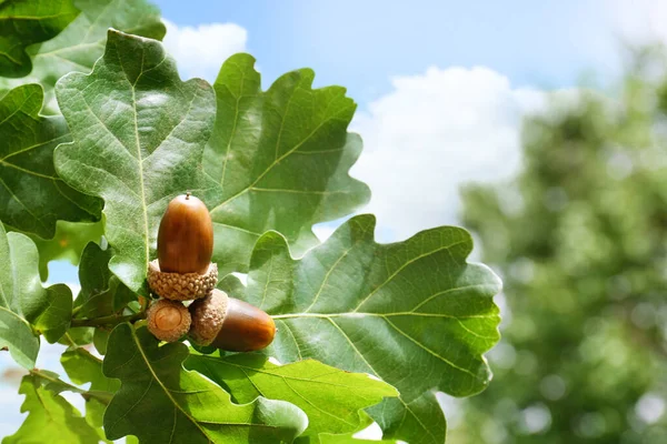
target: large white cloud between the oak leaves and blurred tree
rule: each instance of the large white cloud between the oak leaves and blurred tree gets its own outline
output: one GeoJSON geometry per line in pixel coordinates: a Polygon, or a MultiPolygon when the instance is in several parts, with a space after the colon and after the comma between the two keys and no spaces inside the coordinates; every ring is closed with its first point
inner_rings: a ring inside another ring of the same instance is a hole
{"type": "Polygon", "coordinates": [[[514,175],[521,119],[546,99],[487,68],[430,68],[392,84],[354,123],[365,150],[351,174],[372,190],[365,211],[389,229],[384,241],[457,223],[460,184],[514,175]]]}

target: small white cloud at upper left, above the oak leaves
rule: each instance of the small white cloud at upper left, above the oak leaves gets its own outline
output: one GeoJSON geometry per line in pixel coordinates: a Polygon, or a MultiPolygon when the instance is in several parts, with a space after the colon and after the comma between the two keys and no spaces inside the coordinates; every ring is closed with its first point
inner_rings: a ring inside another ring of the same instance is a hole
{"type": "Polygon", "coordinates": [[[213,82],[222,62],[246,51],[248,32],[235,23],[179,27],[168,20],[165,46],[176,59],[183,79],[199,77],[213,82]]]}

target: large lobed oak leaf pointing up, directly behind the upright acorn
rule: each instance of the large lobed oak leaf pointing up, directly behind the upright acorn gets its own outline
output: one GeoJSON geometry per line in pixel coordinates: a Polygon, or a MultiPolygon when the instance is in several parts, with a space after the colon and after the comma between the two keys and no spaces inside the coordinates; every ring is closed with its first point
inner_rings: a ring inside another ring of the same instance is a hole
{"type": "Polygon", "coordinates": [[[109,268],[148,294],[148,262],[168,202],[216,186],[201,168],[216,112],[212,88],[200,79],[182,82],[160,42],[109,30],[92,73],[69,73],[56,94],[73,137],[56,150],[58,174],[104,200],[109,268]]]}

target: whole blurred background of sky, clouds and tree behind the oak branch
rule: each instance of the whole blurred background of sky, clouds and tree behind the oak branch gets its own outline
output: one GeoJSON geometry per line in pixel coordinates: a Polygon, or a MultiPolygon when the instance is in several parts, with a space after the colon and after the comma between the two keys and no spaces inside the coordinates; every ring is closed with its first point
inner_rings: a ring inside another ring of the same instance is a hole
{"type": "MultiPolygon", "coordinates": [[[[440,397],[448,442],[667,443],[667,2],[153,2],[183,78],[247,51],[265,87],[311,67],[348,88],[380,241],[474,232],[502,340],[486,392],[440,397]]],[[[78,286],[67,262],[49,275],[78,286]]],[[[0,372],[4,436],[21,373],[0,372]]]]}

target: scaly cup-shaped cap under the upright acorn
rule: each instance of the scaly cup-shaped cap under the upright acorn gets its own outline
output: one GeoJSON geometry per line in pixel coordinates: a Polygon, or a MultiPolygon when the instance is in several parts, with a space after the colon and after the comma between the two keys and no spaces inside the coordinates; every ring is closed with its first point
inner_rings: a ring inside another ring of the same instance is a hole
{"type": "Polygon", "coordinates": [[[218,265],[209,265],[206,274],[166,273],[160,271],[158,260],[148,264],[148,284],[159,296],[172,301],[191,301],[209,294],[218,283],[218,265]]]}

